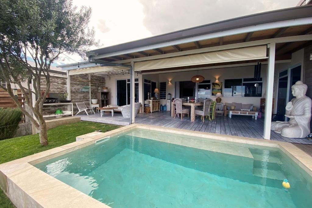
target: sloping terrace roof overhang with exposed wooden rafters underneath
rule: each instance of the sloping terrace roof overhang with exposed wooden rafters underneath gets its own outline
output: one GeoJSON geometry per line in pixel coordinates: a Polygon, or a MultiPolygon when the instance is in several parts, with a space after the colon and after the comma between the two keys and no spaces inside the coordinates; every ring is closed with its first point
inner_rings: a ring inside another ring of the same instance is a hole
{"type": "MultiPolygon", "coordinates": [[[[289,60],[292,52],[312,42],[311,14],[312,5],[308,5],[238,17],[97,49],[92,51],[98,53],[93,59],[129,64],[275,42],[275,60],[289,60]]],[[[78,65],[79,69],[99,67],[88,61],[59,67],[77,70],[78,65]]]]}

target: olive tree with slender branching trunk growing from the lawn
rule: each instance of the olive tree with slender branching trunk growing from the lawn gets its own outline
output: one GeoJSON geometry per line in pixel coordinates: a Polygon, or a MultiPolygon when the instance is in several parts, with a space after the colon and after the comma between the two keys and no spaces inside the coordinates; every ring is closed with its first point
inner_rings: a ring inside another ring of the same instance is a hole
{"type": "Polygon", "coordinates": [[[0,78],[7,83],[0,86],[39,129],[40,143],[46,146],[42,109],[50,89],[49,69],[62,53],[85,56],[91,46],[98,46],[94,29],[88,28],[91,8],[77,9],[70,0],[1,0],[0,11],[0,78]],[[22,108],[11,84],[22,90],[35,118],[22,108]],[[36,95],[34,105],[32,94],[36,95]]]}

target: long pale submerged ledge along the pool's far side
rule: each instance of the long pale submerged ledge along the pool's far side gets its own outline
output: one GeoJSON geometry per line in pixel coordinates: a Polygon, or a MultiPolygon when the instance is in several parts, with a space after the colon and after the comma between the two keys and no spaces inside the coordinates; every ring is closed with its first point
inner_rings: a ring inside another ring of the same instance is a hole
{"type": "Polygon", "coordinates": [[[178,137],[173,135],[168,135],[164,133],[157,133],[154,131],[143,131],[143,130],[134,130],[127,134],[127,136],[134,136],[139,138],[146,138],[157,140],[160,142],[167,142],[177,145],[183,145],[186,147],[203,149],[213,152],[219,152],[229,155],[236,155],[240,157],[248,157],[249,159],[253,159],[253,156],[247,147],[239,147],[235,145],[227,144],[225,141],[207,141],[200,140],[197,138],[189,138],[189,137],[178,137]]]}

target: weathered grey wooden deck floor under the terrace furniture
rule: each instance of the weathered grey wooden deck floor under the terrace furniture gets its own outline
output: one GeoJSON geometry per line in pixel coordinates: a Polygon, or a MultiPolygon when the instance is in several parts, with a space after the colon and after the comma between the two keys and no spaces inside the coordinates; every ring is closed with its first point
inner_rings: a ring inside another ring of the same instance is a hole
{"type": "MultiPolygon", "coordinates": [[[[99,113],[90,114],[89,116],[79,114],[79,116],[81,120],[85,121],[129,125],[129,119],[123,118],[121,113],[114,113],[114,117],[108,113],[104,113],[103,117],[100,117],[99,113]]],[[[217,116],[212,122],[206,119],[203,123],[200,117],[196,117],[195,121],[191,122],[190,118],[187,117],[183,117],[183,120],[178,117],[174,119],[170,116],[170,112],[153,112],[151,114],[138,114],[135,118],[135,123],[263,139],[264,119],[254,120],[249,116],[232,115],[232,119],[228,116],[217,116]]],[[[309,139],[286,138],[273,131],[271,131],[271,140],[312,144],[312,141],[309,139]]]]}

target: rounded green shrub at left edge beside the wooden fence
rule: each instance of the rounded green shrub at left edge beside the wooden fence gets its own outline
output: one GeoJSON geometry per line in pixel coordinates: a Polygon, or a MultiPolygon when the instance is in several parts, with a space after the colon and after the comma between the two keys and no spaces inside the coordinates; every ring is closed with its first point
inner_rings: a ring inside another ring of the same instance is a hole
{"type": "Polygon", "coordinates": [[[0,108],[0,140],[14,136],[22,114],[22,111],[17,108],[0,108]]]}

